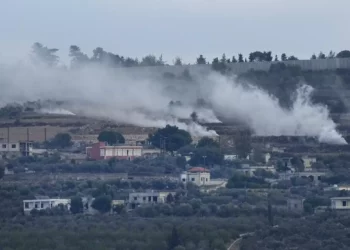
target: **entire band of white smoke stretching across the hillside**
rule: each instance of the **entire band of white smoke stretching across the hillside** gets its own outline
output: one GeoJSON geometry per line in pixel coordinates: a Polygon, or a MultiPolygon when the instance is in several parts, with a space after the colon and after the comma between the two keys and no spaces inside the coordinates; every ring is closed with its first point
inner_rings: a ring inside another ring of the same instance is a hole
{"type": "MultiPolygon", "coordinates": [[[[225,120],[245,123],[257,135],[313,136],[320,142],[346,144],[327,108],[310,102],[312,88],[307,85],[297,90],[292,108],[286,110],[267,92],[217,74],[197,76],[197,81],[184,84],[142,76],[137,68],[116,70],[90,63],[67,69],[21,63],[0,65],[0,84],[2,105],[53,99],[63,102],[56,110],[67,114],[144,127],[171,124],[196,136],[216,132],[181,119],[190,120],[195,112],[201,123],[220,122],[216,117],[220,114],[225,120]],[[198,106],[198,99],[210,107],[198,106]],[[169,105],[174,100],[181,105],[169,105]]],[[[44,107],[42,112],[50,113],[52,108],[44,107]]]]}

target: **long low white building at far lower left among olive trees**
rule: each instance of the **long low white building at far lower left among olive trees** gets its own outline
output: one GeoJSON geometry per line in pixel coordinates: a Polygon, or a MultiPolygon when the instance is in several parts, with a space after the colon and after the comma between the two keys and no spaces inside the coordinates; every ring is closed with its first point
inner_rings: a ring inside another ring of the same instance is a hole
{"type": "Polygon", "coordinates": [[[70,199],[50,199],[49,197],[37,197],[34,200],[23,200],[23,211],[24,214],[30,214],[33,209],[45,210],[57,207],[59,205],[65,206],[67,209],[70,208],[70,199]]]}

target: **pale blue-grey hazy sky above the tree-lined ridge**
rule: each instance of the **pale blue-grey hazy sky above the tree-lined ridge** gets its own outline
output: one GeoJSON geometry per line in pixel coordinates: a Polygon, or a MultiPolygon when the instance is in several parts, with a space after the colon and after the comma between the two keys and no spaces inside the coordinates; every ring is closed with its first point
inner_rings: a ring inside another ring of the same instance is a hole
{"type": "Polygon", "coordinates": [[[0,0],[0,60],[38,41],[192,63],[254,50],[309,58],[350,49],[349,0],[0,0]]]}

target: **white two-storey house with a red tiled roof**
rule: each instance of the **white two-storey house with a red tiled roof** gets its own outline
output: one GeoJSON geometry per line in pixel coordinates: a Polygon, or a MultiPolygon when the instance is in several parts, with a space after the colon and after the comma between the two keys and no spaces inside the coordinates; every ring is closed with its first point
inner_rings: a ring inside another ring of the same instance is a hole
{"type": "Polygon", "coordinates": [[[194,167],[180,175],[182,183],[193,183],[197,186],[210,185],[210,171],[206,168],[194,167]]]}

